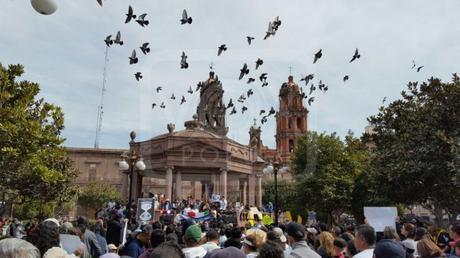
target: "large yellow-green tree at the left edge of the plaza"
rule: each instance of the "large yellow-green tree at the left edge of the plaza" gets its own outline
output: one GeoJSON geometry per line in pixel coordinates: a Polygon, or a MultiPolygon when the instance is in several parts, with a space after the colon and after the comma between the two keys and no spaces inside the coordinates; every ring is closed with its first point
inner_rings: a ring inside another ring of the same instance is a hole
{"type": "Polygon", "coordinates": [[[61,109],[37,99],[39,85],[0,64],[0,189],[15,202],[66,201],[76,170],[62,147],[61,109]]]}

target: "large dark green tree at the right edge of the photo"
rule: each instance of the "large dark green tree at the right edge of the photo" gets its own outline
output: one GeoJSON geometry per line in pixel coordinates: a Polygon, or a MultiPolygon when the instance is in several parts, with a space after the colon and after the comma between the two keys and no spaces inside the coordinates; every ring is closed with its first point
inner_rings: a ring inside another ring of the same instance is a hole
{"type": "Polygon", "coordinates": [[[460,212],[460,80],[410,82],[368,120],[376,184],[395,203],[460,212]]]}

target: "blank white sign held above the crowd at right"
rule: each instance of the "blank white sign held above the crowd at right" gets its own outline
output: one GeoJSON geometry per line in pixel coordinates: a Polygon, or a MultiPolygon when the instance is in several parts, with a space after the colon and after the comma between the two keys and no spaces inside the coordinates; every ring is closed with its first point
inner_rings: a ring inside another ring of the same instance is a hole
{"type": "Polygon", "coordinates": [[[396,228],[396,207],[364,207],[364,217],[376,232],[383,232],[386,226],[396,228]]]}

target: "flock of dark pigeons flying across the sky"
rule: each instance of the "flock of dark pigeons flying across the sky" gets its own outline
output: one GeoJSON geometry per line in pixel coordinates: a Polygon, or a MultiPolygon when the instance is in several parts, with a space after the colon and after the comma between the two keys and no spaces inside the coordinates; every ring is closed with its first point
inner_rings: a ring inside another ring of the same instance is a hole
{"type": "MultiPolygon", "coordinates": [[[[97,0],[97,2],[102,6],[102,0],[97,0]]],[[[128,11],[126,13],[125,23],[130,23],[131,21],[135,21],[140,26],[145,27],[145,26],[149,25],[149,21],[146,19],[146,16],[147,16],[146,13],[143,13],[141,15],[136,15],[134,13],[134,11],[133,11],[133,8],[131,6],[129,6],[128,11]]],[[[182,16],[179,19],[180,25],[187,25],[187,24],[190,25],[190,24],[192,24],[192,22],[193,22],[193,19],[192,19],[191,16],[188,15],[187,10],[183,10],[182,16]]],[[[278,16],[273,21],[270,21],[268,23],[268,28],[267,28],[267,30],[265,32],[265,37],[263,39],[267,40],[268,38],[275,36],[276,32],[280,28],[281,24],[282,24],[282,22],[281,22],[281,20],[279,19],[278,16]]],[[[253,36],[246,36],[247,44],[249,46],[251,46],[251,44],[253,43],[253,41],[255,39],[256,38],[253,37],[253,36]]],[[[116,33],[114,39],[112,39],[112,35],[108,35],[105,38],[104,42],[105,42],[107,47],[111,47],[114,44],[122,46],[123,45],[123,40],[121,38],[121,32],[118,31],[116,33]]],[[[150,52],[149,42],[142,43],[142,45],[139,47],[139,49],[141,50],[143,55],[148,55],[149,52],[150,52]]],[[[226,44],[221,44],[220,46],[218,46],[217,47],[217,56],[221,56],[224,52],[227,51],[227,49],[228,49],[228,47],[227,47],[226,44]]],[[[313,56],[313,64],[316,64],[322,57],[323,57],[323,51],[322,51],[322,49],[319,49],[313,56]]],[[[131,56],[129,56],[128,58],[129,58],[129,64],[130,65],[135,65],[135,64],[138,63],[139,57],[138,57],[138,54],[136,52],[136,49],[133,49],[133,51],[131,52],[131,56]]],[[[188,69],[189,68],[189,63],[187,62],[187,58],[188,58],[187,54],[184,51],[182,51],[182,54],[180,55],[180,68],[181,69],[188,69]]],[[[349,61],[349,63],[355,62],[360,58],[361,58],[361,54],[359,53],[358,48],[356,48],[353,56],[351,57],[351,59],[349,61]]],[[[255,61],[255,69],[254,70],[257,71],[263,64],[264,64],[264,60],[261,59],[261,58],[258,58],[255,61]]],[[[417,67],[415,61],[414,60],[412,61],[411,69],[416,68],[416,71],[420,72],[420,70],[423,67],[424,66],[418,66],[417,67]]],[[[210,69],[213,70],[213,64],[210,65],[210,69]]],[[[245,78],[245,76],[249,77],[249,73],[250,73],[249,66],[248,66],[247,63],[244,63],[242,68],[240,69],[238,80],[242,80],[243,78],[245,78]]],[[[143,78],[143,75],[142,75],[141,72],[134,73],[134,79],[136,81],[140,81],[140,80],[142,80],[142,78],[143,78]]],[[[254,83],[254,82],[256,82],[256,78],[255,77],[249,77],[247,79],[246,83],[247,84],[254,83]]],[[[308,74],[306,76],[302,76],[302,78],[300,80],[301,82],[305,83],[305,87],[307,87],[307,88],[309,87],[308,94],[307,94],[306,91],[303,90],[303,87],[300,87],[300,95],[301,95],[302,99],[306,99],[306,103],[309,106],[311,106],[312,103],[315,101],[315,97],[313,96],[313,93],[317,89],[319,91],[326,92],[326,91],[328,91],[328,88],[329,88],[326,84],[324,84],[322,82],[322,80],[319,80],[318,85],[316,86],[313,83],[314,78],[315,78],[314,74],[308,74]]],[[[267,81],[268,73],[262,72],[258,76],[258,79],[262,83],[261,84],[262,88],[268,86],[268,81],[267,81]]],[[[343,76],[343,82],[344,83],[347,82],[349,79],[350,79],[350,75],[343,76]]],[[[197,85],[197,87],[196,87],[196,89],[194,91],[192,89],[192,86],[190,86],[189,89],[187,90],[187,93],[188,94],[193,94],[194,92],[198,92],[200,90],[200,87],[201,87],[201,83],[199,83],[197,85]]],[[[162,90],[163,90],[162,86],[158,86],[156,88],[157,93],[160,93],[162,90]]],[[[253,89],[248,89],[246,92],[244,92],[243,94],[241,94],[239,96],[237,102],[241,103],[241,105],[242,105],[242,107],[241,107],[241,113],[242,114],[244,114],[248,110],[248,107],[244,105],[245,101],[247,99],[249,99],[249,97],[251,97],[253,94],[254,94],[253,89]]],[[[173,101],[176,100],[176,96],[175,96],[174,93],[172,93],[170,99],[173,100],[173,101]]],[[[187,102],[187,100],[185,98],[185,95],[182,95],[179,105],[182,105],[182,104],[184,104],[186,102],[187,102]]],[[[157,103],[152,103],[152,109],[154,109],[156,106],[157,106],[157,103]]],[[[162,109],[166,108],[166,104],[165,104],[164,101],[161,102],[161,104],[159,105],[159,108],[162,108],[162,109]]],[[[226,108],[227,109],[231,108],[230,113],[229,113],[230,115],[234,115],[234,114],[238,113],[238,111],[236,109],[236,106],[233,103],[232,98],[230,98],[228,104],[226,105],[226,108]]],[[[265,109],[261,109],[260,112],[259,112],[259,116],[261,116],[261,123],[262,124],[266,123],[268,121],[268,118],[270,116],[272,116],[272,115],[275,115],[275,113],[276,113],[276,111],[275,111],[275,108],[273,106],[269,109],[268,112],[266,112],[265,109]]]]}

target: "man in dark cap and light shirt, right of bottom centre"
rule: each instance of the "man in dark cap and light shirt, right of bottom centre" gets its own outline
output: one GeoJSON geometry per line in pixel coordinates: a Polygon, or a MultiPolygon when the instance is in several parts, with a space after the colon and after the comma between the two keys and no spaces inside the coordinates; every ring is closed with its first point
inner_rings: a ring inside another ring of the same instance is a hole
{"type": "Polygon", "coordinates": [[[287,258],[321,258],[305,241],[305,229],[297,222],[291,222],[286,227],[288,243],[292,247],[287,258]]]}

